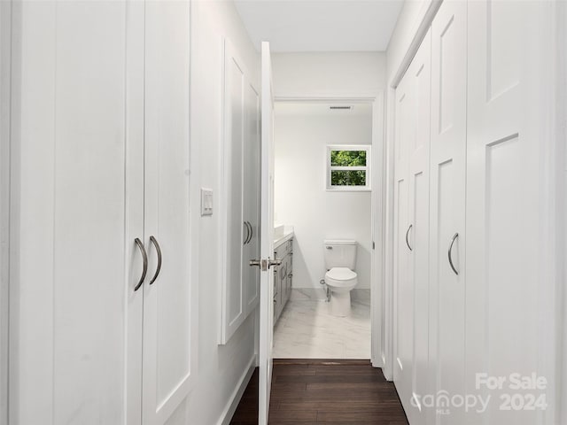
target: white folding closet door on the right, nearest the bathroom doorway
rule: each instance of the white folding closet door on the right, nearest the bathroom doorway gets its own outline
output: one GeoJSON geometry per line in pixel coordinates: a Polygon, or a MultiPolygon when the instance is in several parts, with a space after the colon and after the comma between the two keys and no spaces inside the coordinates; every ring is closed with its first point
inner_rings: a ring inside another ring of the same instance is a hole
{"type": "Polygon", "coordinates": [[[397,89],[396,364],[394,382],[412,424],[423,423],[429,313],[429,143],[431,37],[426,35],[397,89]],[[405,197],[405,198],[401,198],[405,197]],[[412,402],[413,399],[413,402],[412,402]]]}

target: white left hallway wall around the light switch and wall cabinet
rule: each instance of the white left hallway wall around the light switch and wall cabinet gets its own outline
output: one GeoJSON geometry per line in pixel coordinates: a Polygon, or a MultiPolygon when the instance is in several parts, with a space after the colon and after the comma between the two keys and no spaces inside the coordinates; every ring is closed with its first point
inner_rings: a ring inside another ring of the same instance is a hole
{"type": "Polygon", "coordinates": [[[189,423],[214,425],[255,359],[255,315],[251,314],[226,345],[217,345],[220,312],[218,210],[200,217],[199,189],[214,190],[214,206],[220,193],[222,37],[229,37],[258,81],[259,56],[253,49],[231,2],[192,2],[191,10],[191,221],[198,246],[192,264],[198,280],[198,378],[190,393],[189,423]]]}

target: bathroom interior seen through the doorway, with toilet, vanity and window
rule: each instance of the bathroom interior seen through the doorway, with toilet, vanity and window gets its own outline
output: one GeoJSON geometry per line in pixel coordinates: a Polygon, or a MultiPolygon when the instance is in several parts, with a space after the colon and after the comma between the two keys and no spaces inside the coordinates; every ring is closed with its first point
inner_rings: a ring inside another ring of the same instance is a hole
{"type": "Polygon", "coordinates": [[[276,102],[276,359],[370,358],[372,122],[368,102],[276,102]]]}

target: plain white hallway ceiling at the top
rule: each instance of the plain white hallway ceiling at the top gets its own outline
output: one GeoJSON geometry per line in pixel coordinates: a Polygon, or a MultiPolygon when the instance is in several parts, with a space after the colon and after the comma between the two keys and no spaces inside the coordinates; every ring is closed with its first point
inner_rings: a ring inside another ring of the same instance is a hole
{"type": "Polygon", "coordinates": [[[403,0],[235,0],[252,42],[276,52],[384,51],[403,0]]]}

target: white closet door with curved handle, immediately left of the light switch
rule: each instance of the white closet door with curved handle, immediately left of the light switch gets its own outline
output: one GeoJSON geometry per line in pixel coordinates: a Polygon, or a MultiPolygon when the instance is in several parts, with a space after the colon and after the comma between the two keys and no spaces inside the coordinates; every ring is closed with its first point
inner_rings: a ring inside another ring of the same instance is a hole
{"type": "MultiPolygon", "coordinates": [[[[189,24],[188,1],[145,5],[144,244],[149,267],[144,282],[143,423],[151,425],[167,421],[186,398],[194,376],[189,24]],[[151,236],[156,243],[151,242],[151,236]]],[[[189,418],[184,414],[182,407],[175,417],[186,423],[189,418]]]]}

